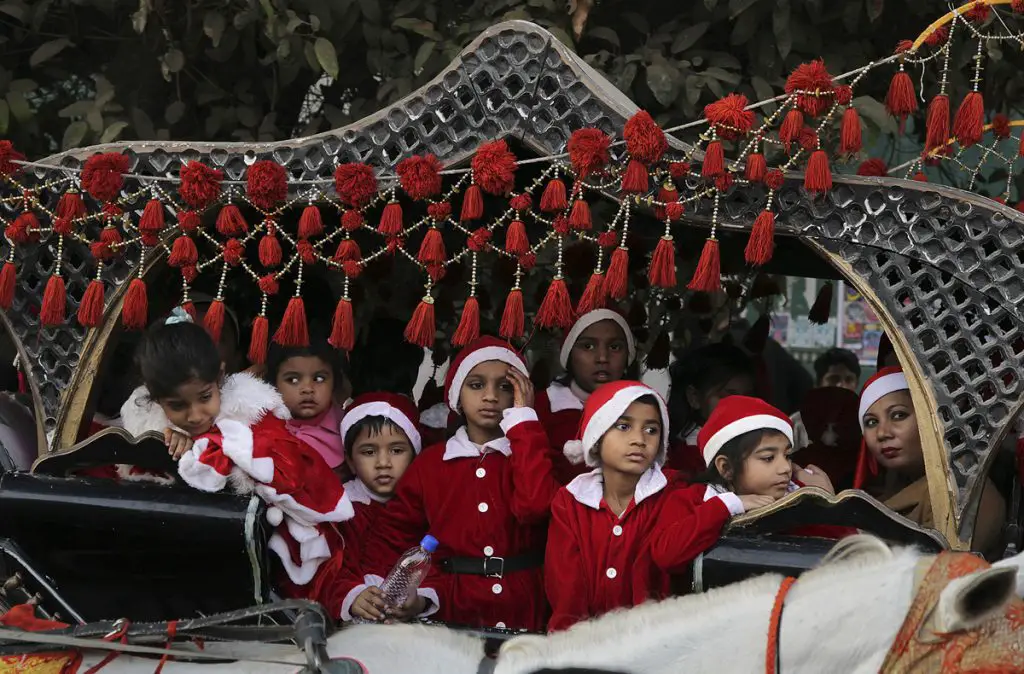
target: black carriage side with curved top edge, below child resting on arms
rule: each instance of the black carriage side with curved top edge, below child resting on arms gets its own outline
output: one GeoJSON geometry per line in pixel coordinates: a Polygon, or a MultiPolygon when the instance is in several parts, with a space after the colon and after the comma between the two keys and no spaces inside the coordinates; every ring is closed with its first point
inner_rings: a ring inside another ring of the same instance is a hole
{"type": "Polygon", "coordinates": [[[794,492],[771,506],[733,518],[714,548],[693,561],[692,591],[762,574],[799,576],[813,568],[836,541],[787,535],[807,526],[848,526],[895,545],[926,552],[948,549],[936,531],[920,526],[860,490],[833,496],[817,488],[794,492]]]}

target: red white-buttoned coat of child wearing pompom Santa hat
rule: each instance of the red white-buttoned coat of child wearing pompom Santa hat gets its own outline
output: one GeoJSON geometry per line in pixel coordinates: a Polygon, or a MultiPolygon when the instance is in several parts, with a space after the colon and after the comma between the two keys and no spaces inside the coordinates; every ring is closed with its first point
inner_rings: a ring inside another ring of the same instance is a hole
{"type": "Polygon", "coordinates": [[[726,499],[706,501],[703,485],[668,481],[648,470],[617,517],[604,502],[600,468],[558,493],[545,557],[551,631],[668,596],[670,576],[718,541],[730,516],[726,499]]]}

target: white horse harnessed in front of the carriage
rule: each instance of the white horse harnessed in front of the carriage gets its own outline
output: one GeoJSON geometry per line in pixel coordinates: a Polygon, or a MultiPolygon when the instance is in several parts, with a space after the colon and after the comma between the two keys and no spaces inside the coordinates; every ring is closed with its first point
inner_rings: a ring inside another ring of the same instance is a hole
{"type": "MultiPolygon", "coordinates": [[[[906,617],[921,553],[891,550],[860,536],[840,543],[785,598],[779,651],[785,674],[878,672],[906,617]]],[[[582,668],[629,674],[763,672],[769,617],[781,578],[762,576],[705,594],[613,612],[549,636],[520,636],[501,649],[495,674],[582,668]]],[[[1024,553],[957,579],[943,590],[935,627],[972,629],[1024,596],[1024,553]]],[[[367,625],[329,640],[332,657],[354,658],[369,674],[475,674],[481,640],[440,627],[367,625]]],[[[270,651],[266,651],[270,652],[270,651]]],[[[264,657],[266,657],[266,652],[264,657]]],[[[297,665],[294,650],[274,652],[297,665]]],[[[89,658],[88,666],[98,658],[89,658]]],[[[121,657],[110,672],[153,671],[153,661],[121,657]]],[[[169,674],[295,672],[295,666],[169,663],[169,674]]]]}

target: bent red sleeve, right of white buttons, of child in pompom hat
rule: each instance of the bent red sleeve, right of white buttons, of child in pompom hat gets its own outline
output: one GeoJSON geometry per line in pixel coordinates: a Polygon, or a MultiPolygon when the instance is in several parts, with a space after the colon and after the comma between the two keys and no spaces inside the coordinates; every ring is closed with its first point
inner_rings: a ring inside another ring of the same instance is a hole
{"type": "Polygon", "coordinates": [[[650,539],[651,558],[658,568],[678,573],[718,542],[729,508],[719,498],[705,501],[705,490],[703,485],[694,485],[666,495],[650,539]]]}

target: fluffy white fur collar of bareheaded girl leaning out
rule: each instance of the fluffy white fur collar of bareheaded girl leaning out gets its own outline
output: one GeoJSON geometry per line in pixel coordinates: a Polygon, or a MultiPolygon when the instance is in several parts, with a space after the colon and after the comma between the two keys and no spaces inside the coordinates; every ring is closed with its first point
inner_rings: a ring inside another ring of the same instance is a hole
{"type": "MultiPolygon", "coordinates": [[[[279,419],[291,419],[288,408],[281,399],[281,393],[270,384],[240,372],[224,379],[220,387],[220,414],[217,422],[224,419],[252,426],[267,412],[279,419]]],[[[145,386],[139,386],[121,407],[121,419],[125,430],[132,435],[141,435],[147,430],[164,432],[173,427],[163,409],[156,401],[150,399],[145,386]]]]}

